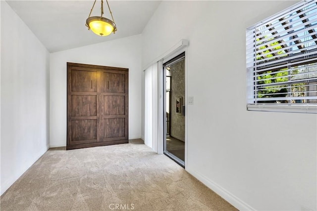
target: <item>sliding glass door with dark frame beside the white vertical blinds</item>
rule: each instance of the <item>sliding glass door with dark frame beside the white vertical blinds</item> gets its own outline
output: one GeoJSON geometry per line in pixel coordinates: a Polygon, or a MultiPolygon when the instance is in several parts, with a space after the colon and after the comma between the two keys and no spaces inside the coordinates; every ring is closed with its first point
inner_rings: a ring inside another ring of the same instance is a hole
{"type": "Polygon", "coordinates": [[[166,111],[164,154],[185,167],[185,52],[163,64],[166,111]]]}

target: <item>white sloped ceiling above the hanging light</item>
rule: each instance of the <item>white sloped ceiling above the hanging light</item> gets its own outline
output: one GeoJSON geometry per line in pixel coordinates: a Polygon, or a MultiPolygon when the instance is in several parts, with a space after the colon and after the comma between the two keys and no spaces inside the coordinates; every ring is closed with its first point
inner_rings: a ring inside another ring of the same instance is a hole
{"type": "MultiPolygon", "coordinates": [[[[7,0],[50,52],[141,34],[160,0],[108,0],[117,32],[95,35],[85,26],[94,0],[7,0]]],[[[91,16],[100,16],[97,0],[91,16]]],[[[111,19],[104,0],[104,17],[111,19]]]]}

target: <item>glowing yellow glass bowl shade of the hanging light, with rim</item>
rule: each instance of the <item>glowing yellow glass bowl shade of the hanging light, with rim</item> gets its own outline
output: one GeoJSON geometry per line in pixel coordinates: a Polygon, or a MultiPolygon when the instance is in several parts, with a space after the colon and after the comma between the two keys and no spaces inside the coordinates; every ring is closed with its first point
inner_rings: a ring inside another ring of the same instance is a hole
{"type": "Polygon", "coordinates": [[[86,24],[91,31],[99,36],[107,36],[111,34],[111,32],[116,31],[115,23],[104,17],[89,17],[86,20],[86,24]]]}

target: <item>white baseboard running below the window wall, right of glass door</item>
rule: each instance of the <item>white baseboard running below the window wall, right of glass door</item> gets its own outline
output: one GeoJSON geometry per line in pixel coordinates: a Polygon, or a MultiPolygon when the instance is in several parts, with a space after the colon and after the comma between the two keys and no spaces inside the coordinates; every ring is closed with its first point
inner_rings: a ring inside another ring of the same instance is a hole
{"type": "Polygon", "coordinates": [[[186,167],[186,171],[192,174],[194,177],[196,177],[199,181],[204,183],[207,187],[209,187],[212,191],[221,196],[224,200],[229,202],[233,207],[237,208],[239,211],[255,211],[255,209],[252,208],[250,205],[243,202],[241,199],[231,194],[229,191],[227,191],[217,183],[211,181],[206,176],[188,167],[186,167]]]}

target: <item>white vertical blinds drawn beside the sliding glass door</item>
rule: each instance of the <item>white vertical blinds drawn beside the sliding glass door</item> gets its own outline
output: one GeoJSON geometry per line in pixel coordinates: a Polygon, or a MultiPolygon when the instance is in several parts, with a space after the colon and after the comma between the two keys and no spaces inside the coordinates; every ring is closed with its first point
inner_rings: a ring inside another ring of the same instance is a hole
{"type": "Polygon", "coordinates": [[[155,152],[163,153],[162,63],[145,70],[144,142],[155,152]]]}

